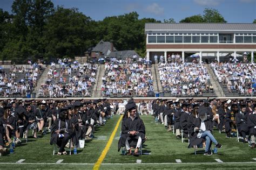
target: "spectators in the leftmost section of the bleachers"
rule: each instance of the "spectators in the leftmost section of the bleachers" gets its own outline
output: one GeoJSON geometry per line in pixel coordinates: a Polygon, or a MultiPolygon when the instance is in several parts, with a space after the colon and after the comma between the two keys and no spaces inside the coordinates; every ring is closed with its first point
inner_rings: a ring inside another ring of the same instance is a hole
{"type": "Polygon", "coordinates": [[[26,96],[37,86],[37,80],[42,73],[42,62],[32,63],[18,67],[12,65],[9,69],[0,69],[0,95],[26,96]]]}

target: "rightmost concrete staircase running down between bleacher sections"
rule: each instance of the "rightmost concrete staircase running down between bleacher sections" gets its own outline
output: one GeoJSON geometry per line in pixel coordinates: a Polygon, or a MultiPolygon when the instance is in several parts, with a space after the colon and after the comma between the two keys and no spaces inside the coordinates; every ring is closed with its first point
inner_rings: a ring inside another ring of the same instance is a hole
{"type": "Polygon", "coordinates": [[[216,96],[217,97],[225,97],[225,94],[224,94],[223,90],[221,89],[220,84],[217,81],[217,78],[211,69],[211,66],[208,64],[205,64],[205,67],[207,69],[208,74],[210,75],[210,81],[211,81],[211,84],[213,86],[213,90],[214,90],[216,96]]]}

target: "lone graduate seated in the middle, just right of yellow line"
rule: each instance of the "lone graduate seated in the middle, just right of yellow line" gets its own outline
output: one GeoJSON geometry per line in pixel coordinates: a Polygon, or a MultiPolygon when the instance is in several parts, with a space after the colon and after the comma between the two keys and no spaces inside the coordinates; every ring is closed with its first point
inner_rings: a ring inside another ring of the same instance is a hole
{"type": "Polygon", "coordinates": [[[122,135],[118,141],[118,151],[122,146],[126,147],[127,155],[131,155],[131,147],[134,147],[134,155],[138,155],[140,146],[145,141],[145,126],[137,116],[136,106],[132,103],[126,105],[126,115],[122,122],[122,135]]]}

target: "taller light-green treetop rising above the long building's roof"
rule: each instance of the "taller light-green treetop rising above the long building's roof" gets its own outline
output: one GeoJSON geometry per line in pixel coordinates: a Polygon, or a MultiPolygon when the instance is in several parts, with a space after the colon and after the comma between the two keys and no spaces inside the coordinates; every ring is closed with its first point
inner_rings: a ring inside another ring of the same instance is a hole
{"type": "Polygon", "coordinates": [[[204,10],[205,23],[226,23],[224,17],[219,13],[218,10],[213,8],[206,8],[204,10]]]}

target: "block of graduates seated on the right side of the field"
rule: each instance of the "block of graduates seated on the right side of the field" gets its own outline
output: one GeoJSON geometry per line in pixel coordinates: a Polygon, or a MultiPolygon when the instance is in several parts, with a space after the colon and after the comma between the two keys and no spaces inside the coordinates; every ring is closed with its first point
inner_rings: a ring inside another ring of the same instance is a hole
{"type": "MultiPolygon", "coordinates": [[[[244,143],[255,148],[256,135],[256,102],[247,100],[211,100],[167,101],[154,100],[152,114],[156,121],[163,124],[167,131],[174,131],[178,139],[188,138],[188,147],[203,144],[205,155],[212,155],[211,143],[222,147],[214,138],[215,126],[219,132],[225,132],[225,138],[238,135],[244,143]],[[181,134],[183,133],[183,134],[181,134]]],[[[238,139],[240,139],[238,138],[238,139]]]]}

